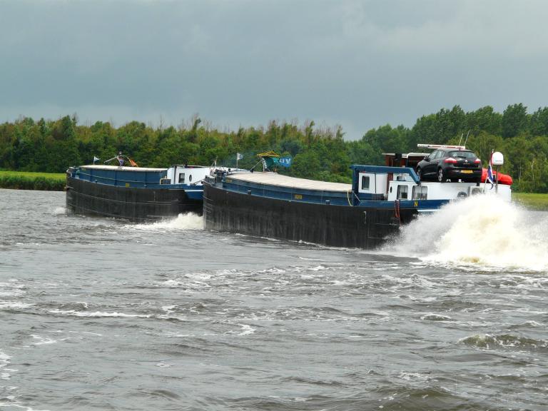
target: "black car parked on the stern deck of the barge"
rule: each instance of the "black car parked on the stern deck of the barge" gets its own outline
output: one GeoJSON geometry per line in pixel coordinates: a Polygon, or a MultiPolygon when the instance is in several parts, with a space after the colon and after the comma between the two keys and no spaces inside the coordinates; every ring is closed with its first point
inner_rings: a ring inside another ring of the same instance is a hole
{"type": "Polygon", "coordinates": [[[482,180],[482,161],[470,150],[438,148],[417,164],[417,174],[422,181],[432,179],[443,183],[451,181],[482,180]]]}

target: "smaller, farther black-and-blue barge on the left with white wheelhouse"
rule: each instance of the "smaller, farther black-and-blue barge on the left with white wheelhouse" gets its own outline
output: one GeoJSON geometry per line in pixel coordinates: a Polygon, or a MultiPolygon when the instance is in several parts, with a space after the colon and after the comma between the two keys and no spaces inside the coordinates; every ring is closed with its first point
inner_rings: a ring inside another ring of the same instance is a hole
{"type": "Polygon", "coordinates": [[[76,214],[151,222],[202,213],[203,179],[212,167],[78,166],[66,171],[66,209],[76,214]]]}

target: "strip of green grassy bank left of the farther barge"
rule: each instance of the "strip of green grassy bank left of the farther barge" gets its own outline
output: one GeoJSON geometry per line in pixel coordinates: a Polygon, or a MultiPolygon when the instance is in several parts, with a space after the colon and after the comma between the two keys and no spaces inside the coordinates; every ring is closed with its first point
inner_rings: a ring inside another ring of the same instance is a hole
{"type": "Polygon", "coordinates": [[[24,171],[0,171],[0,188],[19,190],[63,191],[65,173],[27,173],[24,171]]]}

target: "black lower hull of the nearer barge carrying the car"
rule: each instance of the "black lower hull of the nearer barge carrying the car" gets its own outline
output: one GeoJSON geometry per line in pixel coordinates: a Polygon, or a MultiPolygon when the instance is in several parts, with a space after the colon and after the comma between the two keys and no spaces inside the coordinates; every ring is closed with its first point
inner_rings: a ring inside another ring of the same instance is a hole
{"type": "Polygon", "coordinates": [[[276,200],[233,193],[204,183],[208,230],[305,241],[348,248],[376,248],[412,220],[416,209],[362,208],[276,200]]]}

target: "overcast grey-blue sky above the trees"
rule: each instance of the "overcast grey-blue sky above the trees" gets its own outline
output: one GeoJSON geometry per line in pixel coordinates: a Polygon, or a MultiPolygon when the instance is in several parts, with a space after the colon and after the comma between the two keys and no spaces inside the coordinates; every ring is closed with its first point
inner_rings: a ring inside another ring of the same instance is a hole
{"type": "Polygon", "coordinates": [[[0,121],[314,121],[548,106],[545,0],[0,0],[0,121]]]}

